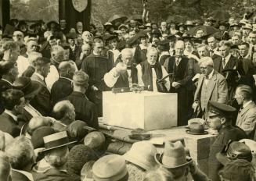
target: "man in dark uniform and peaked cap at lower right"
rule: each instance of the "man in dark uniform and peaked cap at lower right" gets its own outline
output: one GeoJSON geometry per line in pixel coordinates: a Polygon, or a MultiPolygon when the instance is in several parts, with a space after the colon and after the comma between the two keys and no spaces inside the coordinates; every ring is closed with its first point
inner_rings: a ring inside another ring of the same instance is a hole
{"type": "Polygon", "coordinates": [[[236,108],[232,106],[210,101],[210,111],[207,122],[211,129],[218,130],[218,136],[210,147],[209,154],[209,178],[218,181],[218,171],[222,168],[221,163],[216,159],[216,154],[222,151],[229,140],[242,140],[247,134],[239,127],[232,126],[233,112],[236,108]]]}

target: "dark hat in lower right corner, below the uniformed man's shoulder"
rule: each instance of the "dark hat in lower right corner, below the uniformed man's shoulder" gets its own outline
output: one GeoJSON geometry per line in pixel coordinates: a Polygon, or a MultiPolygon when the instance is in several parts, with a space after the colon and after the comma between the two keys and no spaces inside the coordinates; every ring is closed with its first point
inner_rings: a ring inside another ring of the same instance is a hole
{"type": "Polygon", "coordinates": [[[244,159],[247,161],[252,160],[251,149],[246,144],[239,141],[229,140],[229,143],[225,146],[222,152],[216,154],[217,160],[222,165],[228,164],[230,161],[236,159],[244,159]]]}

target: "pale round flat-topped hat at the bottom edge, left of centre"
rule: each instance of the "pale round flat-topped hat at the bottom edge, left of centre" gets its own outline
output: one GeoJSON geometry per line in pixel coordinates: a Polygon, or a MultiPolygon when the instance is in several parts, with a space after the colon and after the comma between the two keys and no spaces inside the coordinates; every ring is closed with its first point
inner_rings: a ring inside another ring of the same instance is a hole
{"type": "Polygon", "coordinates": [[[92,166],[92,177],[95,181],[117,181],[128,176],[125,160],[118,154],[99,158],[92,166]]]}

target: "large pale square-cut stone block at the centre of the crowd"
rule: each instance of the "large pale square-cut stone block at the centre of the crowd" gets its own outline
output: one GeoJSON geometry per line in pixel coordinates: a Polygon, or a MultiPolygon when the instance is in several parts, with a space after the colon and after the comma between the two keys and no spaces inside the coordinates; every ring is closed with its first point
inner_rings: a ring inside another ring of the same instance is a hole
{"type": "Polygon", "coordinates": [[[103,122],[128,129],[170,129],[177,126],[177,94],[103,92],[103,122]]]}

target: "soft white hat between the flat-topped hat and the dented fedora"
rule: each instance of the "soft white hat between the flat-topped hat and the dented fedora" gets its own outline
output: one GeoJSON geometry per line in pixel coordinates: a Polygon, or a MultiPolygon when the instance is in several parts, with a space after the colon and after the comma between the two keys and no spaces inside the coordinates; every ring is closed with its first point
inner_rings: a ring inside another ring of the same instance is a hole
{"type": "Polygon", "coordinates": [[[138,165],[142,169],[153,169],[157,162],[154,155],[157,154],[157,148],[145,141],[132,144],[131,149],[124,154],[124,159],[130,161],[134,165],[138,165]]]}

